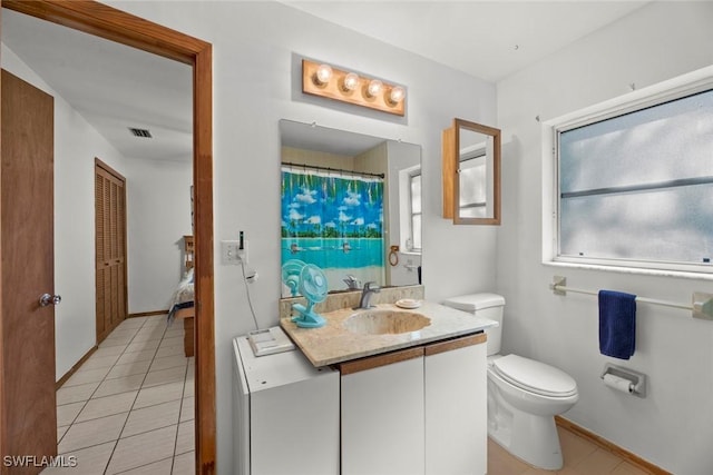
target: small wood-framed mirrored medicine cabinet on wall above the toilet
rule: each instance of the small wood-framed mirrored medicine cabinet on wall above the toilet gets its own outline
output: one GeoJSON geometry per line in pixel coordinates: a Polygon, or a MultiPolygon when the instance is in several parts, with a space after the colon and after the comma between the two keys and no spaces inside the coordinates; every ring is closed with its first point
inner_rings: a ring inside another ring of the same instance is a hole
{"type": "Polygon", "coordinates": [[[499,225],[500,130],[453,119],[442,147],[443,217],[456,225],[499,225]]]}

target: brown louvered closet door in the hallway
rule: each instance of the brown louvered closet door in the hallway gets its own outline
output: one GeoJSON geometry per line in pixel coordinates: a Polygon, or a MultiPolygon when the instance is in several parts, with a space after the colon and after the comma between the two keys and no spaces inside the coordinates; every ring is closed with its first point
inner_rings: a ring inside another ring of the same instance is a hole
{"type": "Polygon", "coordinates": [[[95,171],[99,343],[126,318],[126,180],[99,160],[95,171]]]}

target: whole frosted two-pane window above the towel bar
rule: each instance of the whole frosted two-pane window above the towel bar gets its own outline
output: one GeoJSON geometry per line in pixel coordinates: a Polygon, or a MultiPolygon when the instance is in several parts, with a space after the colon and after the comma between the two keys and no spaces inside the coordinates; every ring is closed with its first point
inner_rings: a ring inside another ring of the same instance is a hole
{"type": "Polygon", "coordinates": [[[713,85],[553,131],[554,260],[713,273],[713,85]]]}

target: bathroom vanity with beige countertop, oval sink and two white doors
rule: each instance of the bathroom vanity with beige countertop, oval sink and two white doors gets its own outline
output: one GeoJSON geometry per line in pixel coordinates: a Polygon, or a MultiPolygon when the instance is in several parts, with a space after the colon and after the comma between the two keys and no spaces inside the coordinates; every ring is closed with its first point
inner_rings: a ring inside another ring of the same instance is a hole
{"type": "Polygon", "coordinates": [[[486,473],[482,330],[495,321],[431,303],[322,316],[281,326],[315,368],[339,370],[341,474],[486,473]]]}

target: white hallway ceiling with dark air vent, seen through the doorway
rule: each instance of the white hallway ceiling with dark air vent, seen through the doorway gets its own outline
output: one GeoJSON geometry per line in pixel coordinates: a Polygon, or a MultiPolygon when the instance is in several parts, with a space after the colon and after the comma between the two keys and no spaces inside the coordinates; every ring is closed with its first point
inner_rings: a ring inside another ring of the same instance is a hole
{"type": "Polygon", "coordinates": [[[2,42],[123,155],[191,160],[189,66],[8,9],[2,42]],[[134,137],[129,127],[153,138],[134,137]]]}

